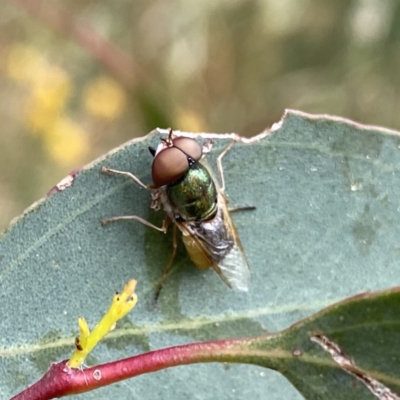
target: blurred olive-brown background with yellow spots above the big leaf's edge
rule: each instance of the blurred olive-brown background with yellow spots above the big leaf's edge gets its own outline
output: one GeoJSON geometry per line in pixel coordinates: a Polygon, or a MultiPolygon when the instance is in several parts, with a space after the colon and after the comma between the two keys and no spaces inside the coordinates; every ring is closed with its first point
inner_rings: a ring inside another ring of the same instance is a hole
{"type": "Polygon", "coordinates": [[[285,108],[400,129],[394,0],[0,0],[0,231],[155,127],[252,136],[285,108]]]}

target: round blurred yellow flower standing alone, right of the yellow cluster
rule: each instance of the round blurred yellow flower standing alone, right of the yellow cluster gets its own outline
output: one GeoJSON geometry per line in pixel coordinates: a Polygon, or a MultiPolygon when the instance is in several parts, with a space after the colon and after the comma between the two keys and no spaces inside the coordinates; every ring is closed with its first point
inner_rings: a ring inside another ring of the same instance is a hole
{"type": "Polygon", "coordinates": [[[109,120],[118,118],[125,103],[125,93],[121,86],[106,76],[92,80],[85,88],[85,109],[96,117],[109,120]]]}

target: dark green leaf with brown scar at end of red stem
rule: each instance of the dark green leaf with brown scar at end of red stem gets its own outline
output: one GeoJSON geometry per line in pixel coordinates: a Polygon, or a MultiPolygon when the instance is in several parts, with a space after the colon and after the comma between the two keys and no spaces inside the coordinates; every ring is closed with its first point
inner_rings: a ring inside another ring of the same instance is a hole
{"type": "Polygon", "coordinates": [[[400,288],[339,302],[272,336],[250,360],[282,372],[306,399],[399,400],[400,288]]]}

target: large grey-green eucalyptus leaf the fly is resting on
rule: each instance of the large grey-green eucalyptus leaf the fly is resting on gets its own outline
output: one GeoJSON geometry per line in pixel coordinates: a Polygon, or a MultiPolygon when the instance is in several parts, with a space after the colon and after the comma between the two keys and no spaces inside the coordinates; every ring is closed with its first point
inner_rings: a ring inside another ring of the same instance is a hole
{"type": "MultiPolygon", "coordinates": [[[[399,284],[399,134],[288,111],[270,135],[237,143],[223,160],[230,204],[257,207],[233,215],[251,268],[249,292],[197,270],[180,244],[154,308],[171,235],[136,221],[102,227],[100,220],[135,214],[161,225],[163,212],[149,208],[146,190],[100,168],[150,183],[147,147],[159,138],[154,131],[75,171],[0,238],[1,398],[68,358],[78,316],[93,326],[131,278],[138,280],[139,303],[88,364],[280,331],[337,300],[399,284]]],[[[229,141],[216,140],[207,155],[211,166],[229,141]]],[[[235,364],[172,368],[77,398],[111,396],[303,398],[280,374],[235,364]]]]}

